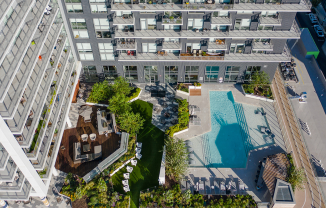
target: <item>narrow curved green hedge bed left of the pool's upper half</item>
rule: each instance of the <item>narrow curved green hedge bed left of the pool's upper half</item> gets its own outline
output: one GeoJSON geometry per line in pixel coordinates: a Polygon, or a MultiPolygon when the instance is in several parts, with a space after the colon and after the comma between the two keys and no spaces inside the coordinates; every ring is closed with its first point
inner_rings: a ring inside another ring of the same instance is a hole
{"type": "Polygon", "coordinates": [[[186,99],[175,99],[179,104],[178,107],[178,123],[170,126],[165,130],[165,134],[173,136],[174,133],[188,128],[189,124],[189,108],[186,99]]]}

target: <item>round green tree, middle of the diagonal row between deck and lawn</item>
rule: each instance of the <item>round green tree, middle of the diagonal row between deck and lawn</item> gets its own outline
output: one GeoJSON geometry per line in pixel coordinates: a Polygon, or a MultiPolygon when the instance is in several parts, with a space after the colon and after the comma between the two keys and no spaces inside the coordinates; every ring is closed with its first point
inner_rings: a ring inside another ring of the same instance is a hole
{"type": "Polygon", "coordinates": [[[127,102],[128,99],[124,94],[115,94],[108,100],[107,109],[117,115],[122,115],[124,112],[131,110],[130,103],[127,102]]]}

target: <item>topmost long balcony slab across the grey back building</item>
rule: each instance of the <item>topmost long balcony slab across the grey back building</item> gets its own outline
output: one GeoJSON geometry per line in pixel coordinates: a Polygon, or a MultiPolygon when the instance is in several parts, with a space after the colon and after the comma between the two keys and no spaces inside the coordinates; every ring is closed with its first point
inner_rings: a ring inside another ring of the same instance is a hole
{"type": "Polygon", "coordinates": [[[148,3],[111,3],[111,11],[310,11],[311,2],[309,0],[301,0],[297,4],[275,4],[275,3],[239,3],[239,4],[202,4],[202,3],[189,3],[189,4],[148,4],[148,3]]]}

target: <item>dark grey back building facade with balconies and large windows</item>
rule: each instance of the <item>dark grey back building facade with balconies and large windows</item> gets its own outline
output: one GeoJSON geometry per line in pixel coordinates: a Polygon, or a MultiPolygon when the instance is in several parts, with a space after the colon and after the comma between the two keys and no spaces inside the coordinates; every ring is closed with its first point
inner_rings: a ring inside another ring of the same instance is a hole
{"type": "Polygon", "coordinates": [[[273,77],[309,0],[65,0],[81,80],[237,83],[273,77]],[[162,54],[163,53],[163,54],[162,54]]]}

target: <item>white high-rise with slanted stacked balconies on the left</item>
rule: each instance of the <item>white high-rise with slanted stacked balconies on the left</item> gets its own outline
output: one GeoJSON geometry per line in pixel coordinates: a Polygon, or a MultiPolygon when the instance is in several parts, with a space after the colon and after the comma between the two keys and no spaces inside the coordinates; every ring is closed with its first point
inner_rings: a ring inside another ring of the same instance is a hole
{"type": "Polygon", "coordinates": [[[45,198],[81,69],[55,0],[0,0],[0,205],[45,198]]]}

